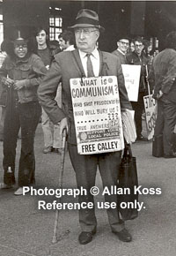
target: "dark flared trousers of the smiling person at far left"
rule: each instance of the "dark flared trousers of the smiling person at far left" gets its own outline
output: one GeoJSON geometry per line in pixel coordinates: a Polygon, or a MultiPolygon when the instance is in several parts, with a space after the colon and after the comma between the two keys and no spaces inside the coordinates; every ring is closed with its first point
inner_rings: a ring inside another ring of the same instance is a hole
{"type": "Polygon", "coordinates": [[[4,120],[4,184],[15,184],[15,158],[19,128],[21,153],[18,165],[18,186],[35,182],[34,134],[39,124],[39,102],[19,103],[13,99],[7,106],[4,120]],[[11,174],[8,168],[11,167],[11,174]]]}

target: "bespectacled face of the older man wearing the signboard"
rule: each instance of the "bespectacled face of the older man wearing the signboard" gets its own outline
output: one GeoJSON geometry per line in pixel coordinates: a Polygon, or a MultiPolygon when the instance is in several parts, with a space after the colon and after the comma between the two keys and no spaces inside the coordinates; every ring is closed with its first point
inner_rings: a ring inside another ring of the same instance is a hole
{"type": "Polygon", "coordinates": [[[96,27],[83,27],[75,29],[77,49],[91,53],[99,39],[99,29],[96,27]]]}

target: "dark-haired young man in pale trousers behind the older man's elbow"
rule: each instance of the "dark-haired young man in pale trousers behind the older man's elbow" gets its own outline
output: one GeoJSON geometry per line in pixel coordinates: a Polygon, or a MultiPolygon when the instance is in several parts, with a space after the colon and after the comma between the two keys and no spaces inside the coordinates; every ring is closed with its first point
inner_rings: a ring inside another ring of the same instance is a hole
{"type": "MultiPolygon", "coordinates": [[[[36,41],[38,44],[38,55],[45,64],[46,68],[49,69],[52,62],[52,52],[49,49],[48,33],[47,29],[43,27],[37,28],[36,41]]],[[[53,124],[49,119],[48,114],[42,108],[41,109],[41,127],[44,135],[44,149],[43,153],[48,154],[54,152],[61,154],[61,139],[60,139],[60,126],[59,124],[53,124]]]]}

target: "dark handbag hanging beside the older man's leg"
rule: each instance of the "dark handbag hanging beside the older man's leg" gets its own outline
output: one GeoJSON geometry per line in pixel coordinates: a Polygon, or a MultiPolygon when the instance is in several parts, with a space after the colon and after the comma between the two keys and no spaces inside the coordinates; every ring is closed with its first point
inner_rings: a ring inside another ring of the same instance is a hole
{"type": "Polygon", "coordinates": [[[119,211],[124,221],[133,220],[138,216],[137,202],[138,192],[134,192],[134,187],[138,186],[136,157],[132,155],[129,144],[125,145],[123,157],[121,159],[120,172],[118,177],[118,187],[122,189],[119,195],[119,211]],[[127,188],[128,193],[125,192],[127,188]],[[121,207],[121,203],[126,207],[121,207]]]}

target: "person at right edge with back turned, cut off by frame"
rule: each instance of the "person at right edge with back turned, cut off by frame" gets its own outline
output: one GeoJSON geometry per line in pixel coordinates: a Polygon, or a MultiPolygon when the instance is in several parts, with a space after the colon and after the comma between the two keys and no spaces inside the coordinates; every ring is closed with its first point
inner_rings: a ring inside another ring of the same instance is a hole
{"type": "Polygon", "coordinates": [[[174,128],[176,124],[176,32],[167,34],[165,49],[153,58],[149,81],[153,98],[158,101],[154,137],[163,137],[164,157],[176,157],[174,128]]]}

